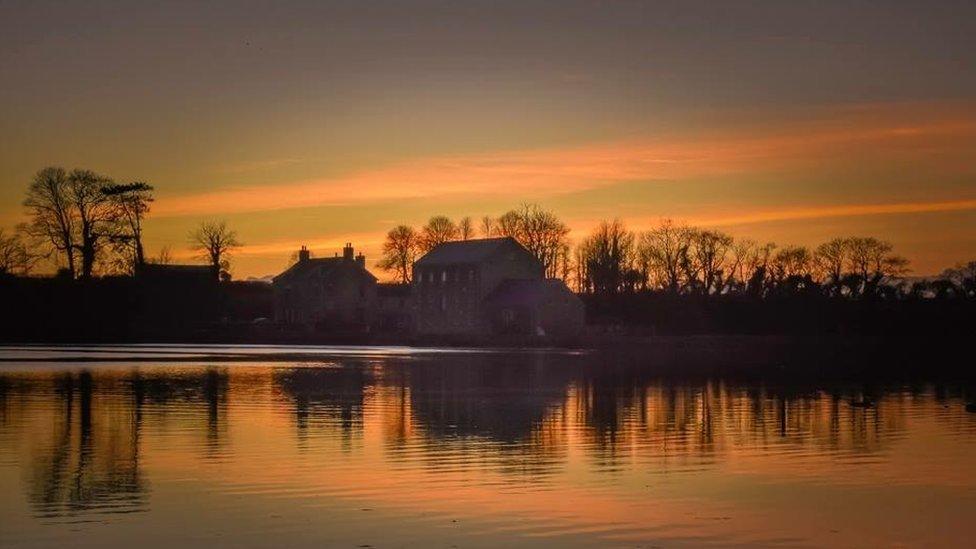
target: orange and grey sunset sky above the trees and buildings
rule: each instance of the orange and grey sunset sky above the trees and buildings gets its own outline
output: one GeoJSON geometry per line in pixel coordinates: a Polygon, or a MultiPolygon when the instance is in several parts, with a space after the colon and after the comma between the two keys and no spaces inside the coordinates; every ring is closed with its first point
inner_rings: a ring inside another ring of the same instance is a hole
{"type": "Polygon", "coordinates": [[[0,227],[49,165],[154,185],[151,256],[226,220],[237,278],[523,202],[934,274],[976,259],[976,3],[0,0],[0,227]]]}

